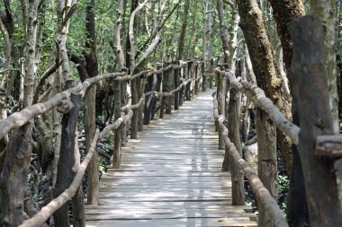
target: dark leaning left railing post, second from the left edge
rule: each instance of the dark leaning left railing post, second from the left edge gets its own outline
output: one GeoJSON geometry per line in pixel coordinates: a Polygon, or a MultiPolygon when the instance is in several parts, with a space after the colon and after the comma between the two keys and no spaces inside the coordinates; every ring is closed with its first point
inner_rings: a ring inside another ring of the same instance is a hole
{"type": "MultiPolygon", "coordinates": [[[[74,178],[74,172],[72,169],[75,164],[76,126],[79,109],[81,108],[81,100],[82,95],[72,93],[70,101],[64,102],[66,104],[66,109],[60,109],[64,115],[62,118],[62,134],[60,139],[57,179],[55,189],[53,191],[54,197],[59,196],[65,189],[67,189],[74,178]]],[[[56,226],[69,226],[67,204],[60,207],[53,216],[56,226]]]]}

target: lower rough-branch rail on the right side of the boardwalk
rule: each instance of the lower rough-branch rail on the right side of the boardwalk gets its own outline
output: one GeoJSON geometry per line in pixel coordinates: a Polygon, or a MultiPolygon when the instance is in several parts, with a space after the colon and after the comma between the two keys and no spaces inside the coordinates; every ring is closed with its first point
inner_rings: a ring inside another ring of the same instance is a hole
{"type": "Polygon", "coordinates": [[[275,199],[269,191],[265,188],[263,182],[258,178],[257,173],[252,169],[252,167],[240,156],[235,144],[231,143],[228,136],[228,128],[224,125],[226,118],[223,115],[219,115],[218,101],[213,98],[213,115],[215,121],[219,123],[220,130],[222,130],[223,141],[226,148],[229,150],[229,157],[233,159],[234,162],[238,163],[239,167],[243,171],[245,177],[247,178],[253,192],[257,196],[257,200],[261,202],[262,205],[268,211],[268,214],[272,218],[275,226],[277,227],[288,227],[288,223],[284,218],[284,214],[277,205],[275,199]]]}

